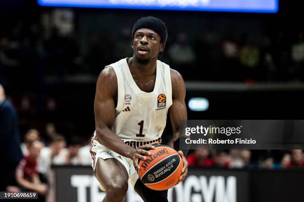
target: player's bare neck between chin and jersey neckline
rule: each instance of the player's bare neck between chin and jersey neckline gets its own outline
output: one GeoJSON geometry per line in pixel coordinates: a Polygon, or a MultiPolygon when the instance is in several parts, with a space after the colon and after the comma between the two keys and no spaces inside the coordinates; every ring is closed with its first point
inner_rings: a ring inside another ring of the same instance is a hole
{"type": "Polygon", "coordinates": [[[156,61],[157,58],[152,58],[147,64],[142,64],[139,62],[136,57],[131,57],[128,61],[130,69],[133,69],[141,74],[151,75],[156,71],[156,61]]]}

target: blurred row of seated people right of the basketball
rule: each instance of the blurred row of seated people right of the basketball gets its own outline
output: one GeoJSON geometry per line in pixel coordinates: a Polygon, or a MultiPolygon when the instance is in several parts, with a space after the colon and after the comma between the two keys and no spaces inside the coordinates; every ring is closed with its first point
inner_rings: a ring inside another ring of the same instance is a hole
{"type": "Polygon", "coordinates": [[[207,150],[197,148],[187,155],[189,167],[304,169],[303,150],[207,150]]]}

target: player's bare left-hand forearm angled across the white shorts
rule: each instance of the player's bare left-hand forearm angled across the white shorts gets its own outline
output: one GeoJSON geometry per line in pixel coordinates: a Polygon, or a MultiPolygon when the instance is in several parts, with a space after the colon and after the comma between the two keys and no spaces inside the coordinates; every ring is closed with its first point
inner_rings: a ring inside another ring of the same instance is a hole
{"type": "Polygon", "coordinates": [[[126,145],[111,129],[108,127],[96,128],[97,141],[109,148],[110,150],[119,153],[123,156],[131,158],[130,154],[135,149],[126,145]]]}

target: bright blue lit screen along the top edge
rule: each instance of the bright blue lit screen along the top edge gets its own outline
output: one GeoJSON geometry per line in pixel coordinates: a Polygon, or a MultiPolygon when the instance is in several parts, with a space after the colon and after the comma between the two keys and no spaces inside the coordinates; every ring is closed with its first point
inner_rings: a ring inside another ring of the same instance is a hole
{"type": "Polygon", "coordinates": [[[38,0],[42,6],[276,13],[279,0],[38,0]]]}

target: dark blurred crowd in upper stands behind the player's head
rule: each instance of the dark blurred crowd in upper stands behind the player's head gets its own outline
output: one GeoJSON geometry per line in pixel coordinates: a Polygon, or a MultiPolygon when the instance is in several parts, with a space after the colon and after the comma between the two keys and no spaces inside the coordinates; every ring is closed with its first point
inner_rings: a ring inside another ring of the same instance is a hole
{"type": "MultiPolygon", "coordinates": [[[[89,32],[82,30],[75,15],[70,9],[54,9],[42,12],[39,20],[19,20],[2,29],[0,82],[11,85],[19,79],[35,86],[49,75],[61,81],[75,74],[97,76],[105,65],[132,56],[132,23],[118,32],[97,28],[89,32]]],[[[262,36],[208,29],[169,32],[163,61],[186,80],[301,81],[304,32],[277,30],[262,36]]]]}

